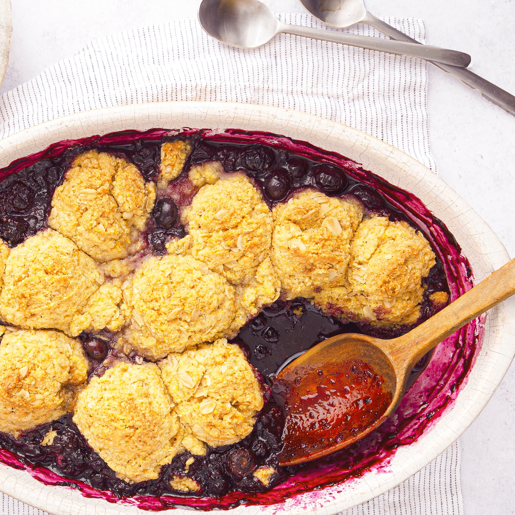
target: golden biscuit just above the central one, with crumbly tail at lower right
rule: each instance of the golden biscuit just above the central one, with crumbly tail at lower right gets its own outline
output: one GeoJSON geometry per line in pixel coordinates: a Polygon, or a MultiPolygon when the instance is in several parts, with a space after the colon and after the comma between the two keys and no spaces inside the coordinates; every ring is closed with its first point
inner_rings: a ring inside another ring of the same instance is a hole
{"type": "Polygon", "coordinates": [[[236,312],[223,333],[232,337],[281,293],[269,258],[271,214],[249,179],[243,174],[224,176],[219,161],[194,165],[188,174],[202,186],[183,214],[190,234],[170,242],[167,249],[192,254],[234,285],[236,312]]]}

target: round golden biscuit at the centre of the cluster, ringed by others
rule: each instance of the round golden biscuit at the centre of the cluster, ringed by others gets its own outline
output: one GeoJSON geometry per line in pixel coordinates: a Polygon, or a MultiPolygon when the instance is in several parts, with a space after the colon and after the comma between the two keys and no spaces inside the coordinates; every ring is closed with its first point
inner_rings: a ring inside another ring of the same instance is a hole
{"type": "Polygon", "coordinates": [[[236,311],[234,287],[190,255],[148,257],[124,296],[124,342],[150,359],[225,334],[236,311]]]}

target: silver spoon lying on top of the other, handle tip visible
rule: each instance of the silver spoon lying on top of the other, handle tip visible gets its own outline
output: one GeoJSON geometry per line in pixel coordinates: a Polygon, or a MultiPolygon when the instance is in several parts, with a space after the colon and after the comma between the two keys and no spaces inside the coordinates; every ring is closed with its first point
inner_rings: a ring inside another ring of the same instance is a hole
{"type": "Polygon", "coordinates": [[[258,0],[203,0],[198,18],[202,28],[213,38],[233,46],[254,48],[270,41],[281,32],[359,46],[369,50],[402,56],[431,59],[454,66],[468,66],[470,56],[437,46],[417,45],[345,32],[286,25],[258,0]]]}

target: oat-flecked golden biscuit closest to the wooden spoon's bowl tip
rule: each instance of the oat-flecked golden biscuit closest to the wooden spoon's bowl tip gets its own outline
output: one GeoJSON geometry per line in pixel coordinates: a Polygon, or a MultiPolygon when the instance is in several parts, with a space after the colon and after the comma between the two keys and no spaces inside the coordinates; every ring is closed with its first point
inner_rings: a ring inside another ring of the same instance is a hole
{"type": "Polygon", "coordinates": [[[245,438],[263,407],[263,393],[237,345],[219,339],[172,353],[159,367],[181,422],[212,447],[245,438]]]}

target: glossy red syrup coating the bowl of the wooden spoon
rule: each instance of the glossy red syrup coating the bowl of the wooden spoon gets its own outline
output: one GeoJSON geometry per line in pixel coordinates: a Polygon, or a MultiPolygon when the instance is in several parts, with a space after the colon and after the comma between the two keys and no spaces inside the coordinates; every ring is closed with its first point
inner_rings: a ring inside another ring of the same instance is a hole
{"type": "Polygon", "coordinates": [[[381,375],[361,361],[297,365],[272,384],[283,399],[281,461],[309,457],[359,437],[388,409],[381,375]]]}

